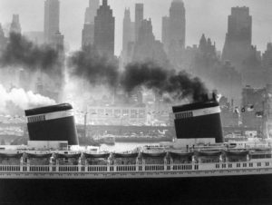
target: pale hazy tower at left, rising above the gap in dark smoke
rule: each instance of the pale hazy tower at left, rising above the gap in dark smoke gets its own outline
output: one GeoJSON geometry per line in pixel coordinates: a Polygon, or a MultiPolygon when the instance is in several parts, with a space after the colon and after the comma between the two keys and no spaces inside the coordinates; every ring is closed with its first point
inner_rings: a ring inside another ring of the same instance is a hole
{"type": "Polygon", "coordinates": [[[51,44],[53,34],[60,32],[60,2],[46,0],[44,2],[44,41],[51,44]]]}

